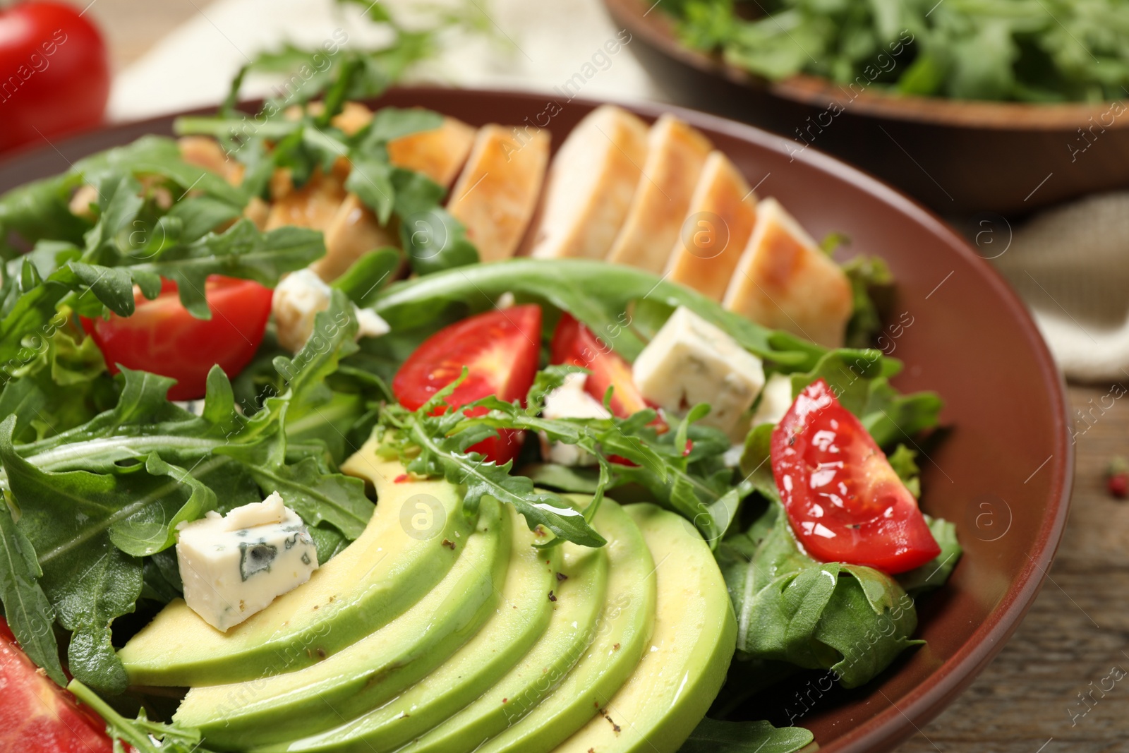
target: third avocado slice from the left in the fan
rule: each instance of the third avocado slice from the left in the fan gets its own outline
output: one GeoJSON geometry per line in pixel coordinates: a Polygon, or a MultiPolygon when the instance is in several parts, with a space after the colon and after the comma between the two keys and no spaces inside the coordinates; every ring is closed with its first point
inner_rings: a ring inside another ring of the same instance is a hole
{"type": "MultiPolygon", "coordinates": [[[[251,750],[255,753],[394,751],[481,695],[483,688],[495,685],[532,646],[545,640],[546,630],[561,632],[576,623],[583,632],[594,623],[607,577],[603,552],[585,548],[570,552],[571,544],[534,549],[536,534],[513,507],[506,505],[505,509],[509,510],[513,529],[509,570],[496,613],[474,638],[388,703],[327,732],[251,750]],[[583,552],[599,553],[588,557],[580,555],[583,552]],[[593,567],[597,563],[603,567],[593,567]],[[562,581],[558,573],[566,579],[562,581]],[[549,599],[550,592],[557,602],[549,599]]],[[[561,653],[559,645],[549,648],[551,651],[543,651],[546,656],[561,653]]]]}

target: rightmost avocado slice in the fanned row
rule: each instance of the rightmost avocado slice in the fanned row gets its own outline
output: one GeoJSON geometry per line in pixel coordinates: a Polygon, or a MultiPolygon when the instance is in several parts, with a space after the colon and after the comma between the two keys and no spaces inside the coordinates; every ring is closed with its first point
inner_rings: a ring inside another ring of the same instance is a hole
{"type": "Polygon", "coordinates": [[[601,716],[557,753],[675,753],[725,683],[737,622],[717,561],[685,518],[630,505],[658,562],[655,632],[650,650],[619,692],[602,700],[601,716]]]}

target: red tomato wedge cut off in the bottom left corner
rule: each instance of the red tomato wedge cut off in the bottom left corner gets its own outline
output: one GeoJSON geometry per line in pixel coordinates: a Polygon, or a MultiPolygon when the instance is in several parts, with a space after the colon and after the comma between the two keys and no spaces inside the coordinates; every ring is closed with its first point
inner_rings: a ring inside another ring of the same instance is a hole
{"type": "Polygon", "coordinates": [[[40,674],[0,618],[0,751],[111,753],[106,723],[40,674]]]}

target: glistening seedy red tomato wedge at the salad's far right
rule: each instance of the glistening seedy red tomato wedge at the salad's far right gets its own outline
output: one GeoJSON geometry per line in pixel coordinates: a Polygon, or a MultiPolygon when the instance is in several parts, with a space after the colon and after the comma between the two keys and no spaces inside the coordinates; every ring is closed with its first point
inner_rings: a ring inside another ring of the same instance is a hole
{"type": "Polygon", "coordinates": [[[791,529],[817,560],[894,575],[940,553],[913,494],[823,379],[772,431],[772,475],[791,529]]]}

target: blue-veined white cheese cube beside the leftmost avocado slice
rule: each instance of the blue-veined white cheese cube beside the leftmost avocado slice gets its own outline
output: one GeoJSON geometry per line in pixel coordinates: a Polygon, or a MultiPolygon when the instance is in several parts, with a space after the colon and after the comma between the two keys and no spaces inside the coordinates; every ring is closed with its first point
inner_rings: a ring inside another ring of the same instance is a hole
{"type": "Polygon", "coordinates": [[[184,601],[227,631],[309,580],[317,549],[306,524],[274,492],[226,516],[211,511],[177,526],[184,601]]]}

